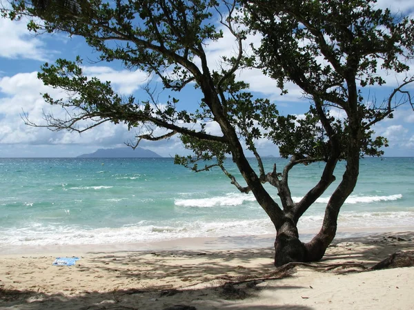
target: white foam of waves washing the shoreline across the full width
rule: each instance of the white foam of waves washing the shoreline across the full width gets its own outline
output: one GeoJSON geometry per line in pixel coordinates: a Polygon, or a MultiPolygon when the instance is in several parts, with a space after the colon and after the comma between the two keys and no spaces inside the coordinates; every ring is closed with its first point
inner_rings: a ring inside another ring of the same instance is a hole
{"type": "MultiPolygon", "coordinates": [[[[304,215],[298,223],[300,231],[318,231],[323,215],[304,215]]],[[[413,227],[414,212],[355,212],[339,214],[338,227],[346,229],[375,229],[387,227],[413,227]]],[[[90,229],[81,226],[47,226],[37,223],[26,229],[0,229],[0,246],[41,246],[75,244],[120,244],[157,242],[181,238],[233,238],[275,233],[268,217],[255,220],[215,221],[140,221],[121,227],[90,229]]]]}

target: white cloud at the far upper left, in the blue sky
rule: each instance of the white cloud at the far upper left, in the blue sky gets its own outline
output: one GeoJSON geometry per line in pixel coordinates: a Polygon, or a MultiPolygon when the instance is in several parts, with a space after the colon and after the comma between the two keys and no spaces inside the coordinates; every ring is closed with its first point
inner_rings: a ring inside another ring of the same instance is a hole
{"type": "Polygon", "coordinates": [[[0,57],[47,61],[57,51],[46,48],[46,43],[28,32],[26,21],[0,18],[0,57]]]}

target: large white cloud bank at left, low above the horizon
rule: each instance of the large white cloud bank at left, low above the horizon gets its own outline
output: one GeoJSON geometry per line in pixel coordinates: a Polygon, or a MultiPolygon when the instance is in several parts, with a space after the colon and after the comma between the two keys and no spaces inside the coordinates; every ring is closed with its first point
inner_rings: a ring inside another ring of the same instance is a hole
{"type": "MultiPolygon", "coordinates": [[[[112,70],[117,77],[119,72],[112,70]]],[[[134,75],[132,75],[134,77],[134,75]]],[[[119,89],[123,89],[123,81],[117,81],[119,89]]],[[[131,83],[126,80],[126,89],[131,83]]],[[[137,83],[137,82],[136,82],[137,83]]],[[[28,114],[30,122],[44,124],[43,111],[51,112],[55,117],[64,119],[65,111],[59,106],[50,106],[40,93],[49,93],[52,97],[64,97],[60,90],[44,86],[37,79],[37,72],[19,73],[12,77],[0,78],[0,92],[6,97],[0,98],[0,144],[89,144],[111,145],[119,144],[133,137],[124,124],[105,123],[97,128],[88,130],[82,135],[68,131],[52,132],[47,128],[26,126],[21,113],[28,114]]]]}

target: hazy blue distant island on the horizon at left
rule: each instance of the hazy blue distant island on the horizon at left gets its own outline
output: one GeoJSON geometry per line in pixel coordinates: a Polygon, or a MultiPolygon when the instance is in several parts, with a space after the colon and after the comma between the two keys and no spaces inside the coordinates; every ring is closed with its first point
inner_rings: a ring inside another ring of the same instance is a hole
{"type": "Polygon", "coordinates": [[[98,151],[90,154],[82,154],[77,158],[139,158],[139,157],[161,157],[155,152],[145,148],[99,148],[98,151]]]}

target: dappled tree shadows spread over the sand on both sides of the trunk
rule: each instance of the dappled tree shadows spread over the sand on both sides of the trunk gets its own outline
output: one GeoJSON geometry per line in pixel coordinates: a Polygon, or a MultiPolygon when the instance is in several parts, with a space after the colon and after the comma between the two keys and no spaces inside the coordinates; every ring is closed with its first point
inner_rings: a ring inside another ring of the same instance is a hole
{"type": "MultiPolygon", "coordinates": [[[[359,262],[365,264],[366,267],[371,267],[400,249],[414,250],[412,236],[407,237],[403,233],[393,233],[373,235],[361,240],[355,238],[338,240],[328,249],[324,259],[318,264],[359,262]],[[361,242],[364,244],[363,246],[360,244],[356,246],[361,242]]],[[[278,303],[277,296],[283,294],[284,291],[304,289],[300,282],[297,282],[297,286],[282,286],[277,284],[277,280],[272,280],[274,282],[271,287],[262,288],[260,285],[249,286],[247,282],[237,284],[230,290],[225,289],[226,282],[240,282],[251,277],[265,278],[274,272],[273,249],[90,254],[89,264],[79,264],[77,271],[92,273],[94,269],[104,269],[107,275],[111,275],[106,278],[108,287],[111,287],[110,282],[115,279],[125,280],[130,283],[130,286],[106,292],[88,291],[88,287],[86,287],[84,291],[69,296],[66,291],[46,294],[35,289],[25,291],[6,289],[1,286],[0,282],[0,309],[162,310],[176,304],[188,304],[197,310],[313,309],[295,304],[295,302],[291,304],[278,303]],[[255,258],[262,258],[266,263],[259,266],[249,266],[251,260],[255,258]],[[184,260],[186,265],[177,264],[178,260],[184,260]],[[182,282],[179,286],[177,286],[177,282],[175,284],[162,282],[163,279],[172,275],[181,279],[182,282]],[[154,287],[143,284],[154,279],[159,279],[157,283],[160,285],[154,287]],[[268,295],[274,296],[273,304],[266,302],[259,304],[260,293],[264,289],[268,295]]]]}

